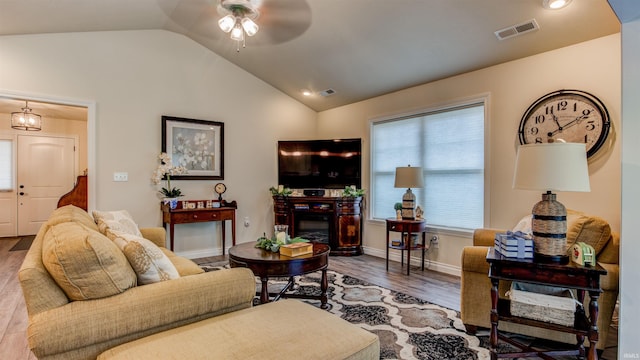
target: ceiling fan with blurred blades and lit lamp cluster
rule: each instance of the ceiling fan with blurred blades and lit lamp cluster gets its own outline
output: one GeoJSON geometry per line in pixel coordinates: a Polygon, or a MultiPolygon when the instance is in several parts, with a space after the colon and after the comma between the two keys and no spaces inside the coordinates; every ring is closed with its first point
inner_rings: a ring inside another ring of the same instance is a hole
{"type": "Polygon", "coordinates": [[[250,40],[252,46],[290,41],[311,25],[311,8],[306,0],[158,0],[158,3],[172,21],[169,26],[173,30],[209,40],[229,38],[218,25],[229,15],[229,23],[239,17],[241,27],[245,17],[254,22],[255,28],[247,25],[255,31],[250,40]]]}

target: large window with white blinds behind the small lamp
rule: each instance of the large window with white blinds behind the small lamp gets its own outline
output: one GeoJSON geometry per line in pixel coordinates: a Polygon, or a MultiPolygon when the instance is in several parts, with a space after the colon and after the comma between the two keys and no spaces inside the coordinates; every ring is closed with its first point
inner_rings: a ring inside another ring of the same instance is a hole
{"type": "Polygon", "coordinates": [[[395,217],[407,189],[393,187],[395,168],[422,167],[412,189],[429,226],[475,229],[484,219],[484,103],[373,122],[372,217],[395,217]]]}

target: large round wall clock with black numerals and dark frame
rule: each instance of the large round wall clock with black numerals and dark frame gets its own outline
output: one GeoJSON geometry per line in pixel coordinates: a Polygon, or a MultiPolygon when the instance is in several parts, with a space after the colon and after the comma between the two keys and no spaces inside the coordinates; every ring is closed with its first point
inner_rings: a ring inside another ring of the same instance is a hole
{"type": "Polygon", "coordinates": [[[558,90],[536,100],[520,120],[520,144],[556,141],[586,144],[593,156],[607,140],[611,121],[602,101],[580,90],[558,90]]]}

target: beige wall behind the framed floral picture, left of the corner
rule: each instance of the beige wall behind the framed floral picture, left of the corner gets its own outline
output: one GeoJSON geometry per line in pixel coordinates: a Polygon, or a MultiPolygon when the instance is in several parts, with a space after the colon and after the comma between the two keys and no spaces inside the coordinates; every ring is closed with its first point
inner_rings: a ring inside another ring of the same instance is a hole
{"type": "MultiPolygon", "coordinates": [[[[94,165],[88,161],[93,204],[127,209],[140,226],[161,224],[158,187],[150,181],[161,149],[160,117],[223,122],[225,198],[238,201],[240,242],[254,241],[273,223],[268,188],[277,182],[277,140],[316,132],[316,112],[186,37],[161,30],[0,37],[0,87],[95,103],[89,131],[96,138],[91,144],[90,133],[88,140],[89,152],[95,147],[94,165]],[[128,172],[129,181],[114,182],[113,172],[128,172]]],[[[206,199],[216,182],[175,185],[185,198],[206,199]]],[[[176,250],[186,256],[221,251],[214,223],[178,225],[176,237],[176,250]]]]}

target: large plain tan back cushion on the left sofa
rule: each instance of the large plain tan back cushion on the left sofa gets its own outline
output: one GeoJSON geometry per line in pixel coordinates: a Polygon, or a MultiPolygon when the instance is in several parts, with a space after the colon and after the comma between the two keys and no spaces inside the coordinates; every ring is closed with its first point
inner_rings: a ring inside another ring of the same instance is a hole
{"type": "Polygon", "coordinates": [[[99,299],[136,285],[136,274],[122,251],[106,236],[77,222],[47,230],[42,262],[71,300],[99,299]]]}

